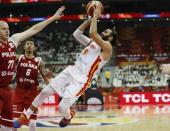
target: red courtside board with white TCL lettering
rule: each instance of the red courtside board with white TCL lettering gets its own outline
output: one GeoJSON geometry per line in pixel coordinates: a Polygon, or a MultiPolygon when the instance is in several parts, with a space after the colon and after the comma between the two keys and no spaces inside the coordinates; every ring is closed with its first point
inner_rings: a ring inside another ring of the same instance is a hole
{"type": "Polygon", "coordinates": [[[120,104],[170,104],[170,92],[122,93],[120,104]]]}

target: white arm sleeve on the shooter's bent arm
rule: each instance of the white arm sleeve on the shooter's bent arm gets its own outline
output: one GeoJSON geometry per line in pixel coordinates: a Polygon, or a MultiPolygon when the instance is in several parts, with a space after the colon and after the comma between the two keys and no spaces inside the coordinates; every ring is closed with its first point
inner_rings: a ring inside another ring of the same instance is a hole
{"type": "Polygon", "coordinates": [[[83,32],[80,31],[79,29],[74,31],[73,36],[74,36],[74,38],[76,38],[76,40],[78,40],[81,44],[83,44],[85,46],[88,45],[91,41],[90,38],[83,35],[83,32]]]}

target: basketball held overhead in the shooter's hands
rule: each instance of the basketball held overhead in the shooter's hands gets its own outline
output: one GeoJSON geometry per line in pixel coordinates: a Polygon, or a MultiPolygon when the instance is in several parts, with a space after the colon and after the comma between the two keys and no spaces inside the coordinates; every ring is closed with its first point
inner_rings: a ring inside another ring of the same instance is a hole
{"type": "Polygon", "coordinates": [[[94,7],[96,6],[99,6],[101,13],[103,13],[104,7],[100,1],[90,1],[86,6],[86,12],[89,16],[93,16],[94,7]]]}

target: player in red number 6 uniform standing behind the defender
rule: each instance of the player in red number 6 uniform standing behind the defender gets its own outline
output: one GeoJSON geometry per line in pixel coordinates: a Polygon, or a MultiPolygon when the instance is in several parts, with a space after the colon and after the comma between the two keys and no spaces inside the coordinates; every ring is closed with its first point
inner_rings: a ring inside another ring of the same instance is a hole
{"type": "MultiPolygon", "coordinates": [[[[14,117],[19,118],[20,114],[27,110],[34,98],[38,95],[38,73],[40,72],[45,83],[48,84],[48,79],[45,76],[44,63],[40,57],[34,56],[35,46],[33,41],[27,41],[24,46],[25,54],[18,58],[16,82],[17,86],[14,94],[14,117]]],[[[30,131],[36,130],[36,117],[30,117],[30,131]]],[[[17,129],[13,129],[17,131],[17,129]]]]}

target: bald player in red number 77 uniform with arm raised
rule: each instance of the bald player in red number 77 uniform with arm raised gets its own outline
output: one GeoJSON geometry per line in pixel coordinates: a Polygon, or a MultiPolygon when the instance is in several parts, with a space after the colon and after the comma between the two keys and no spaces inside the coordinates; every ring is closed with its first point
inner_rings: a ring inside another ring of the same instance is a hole
{"type": "Polygon", "coordinates": [[[51,22],[61,18],[65,7],[62,6],[49,19],[40,22],[22,33],[16,33],[9,38],[9,26],[0,21],[0,125],[2,131],[12,131],[13,97],[9,87],[15,72],[16,48],[27,38],[37,34],[51,22]]]}

